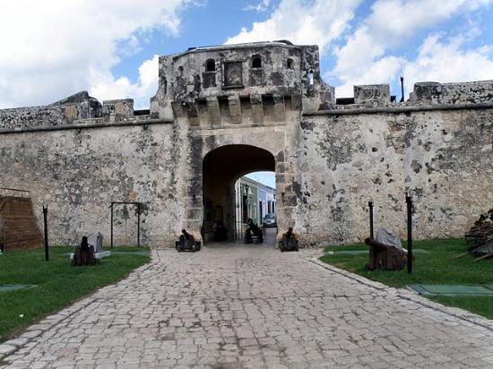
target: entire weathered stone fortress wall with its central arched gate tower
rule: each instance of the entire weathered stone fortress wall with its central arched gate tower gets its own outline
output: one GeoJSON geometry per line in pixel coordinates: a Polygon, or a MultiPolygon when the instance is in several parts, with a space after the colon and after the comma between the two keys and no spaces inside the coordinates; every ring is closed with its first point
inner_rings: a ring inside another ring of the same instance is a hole
{"type": "Polygon", "coordinates": [[[335,99],[316,46],[191,47],[160,57],[150,110],[87,92],[0,110],[0,186],[29,190],[38,219],[48,204],[59,245],[108,240],[118,201],[143,203],[143,244],[182,228],[207,241],[217,220],[232,235],[234,183],[257,170],[275,171],[279,235],[294,227],[302,245],[364,239],[370,199],[376,227],[404,236],[409,190],[416,236],[462,236],[493,202],[492,124],[492,81],[335,99]]]}

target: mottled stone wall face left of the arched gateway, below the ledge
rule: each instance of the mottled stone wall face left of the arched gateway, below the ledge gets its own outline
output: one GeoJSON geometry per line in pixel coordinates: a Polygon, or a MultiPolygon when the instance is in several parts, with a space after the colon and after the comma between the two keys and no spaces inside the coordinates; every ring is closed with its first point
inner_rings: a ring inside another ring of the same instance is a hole
{"type": "Polygon", "coordinates": [[[182,226],[177,166],[184,135],[175,124],[0,135],[0,186],[30,190],[39,221],[41,205],[48,204],[53,245],[80,243],[97,230],[108,243],[109,205],[121,201],[143,202],[143,244],[171,245],[182,226]]]}

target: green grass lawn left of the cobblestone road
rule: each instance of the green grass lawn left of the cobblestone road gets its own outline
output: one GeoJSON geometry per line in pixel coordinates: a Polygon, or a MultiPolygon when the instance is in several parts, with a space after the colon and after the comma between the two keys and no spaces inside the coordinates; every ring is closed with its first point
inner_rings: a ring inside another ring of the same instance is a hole
{"type": "MultiPolygon", "coordinates": [[[[114,250],[146,249],[117,247],[114,250]]],[[[51,247],[49,262],[45,262],[42,247],[0,256],[0,284],[37,286],[0,292],[0,342],[99,287],[124,279],[131,270],[150,261],[148,255],[117,253],[101,259],[100,265],[73,267],[66,255],[69,252],[74,252],[74,247],[51,247]]]]}

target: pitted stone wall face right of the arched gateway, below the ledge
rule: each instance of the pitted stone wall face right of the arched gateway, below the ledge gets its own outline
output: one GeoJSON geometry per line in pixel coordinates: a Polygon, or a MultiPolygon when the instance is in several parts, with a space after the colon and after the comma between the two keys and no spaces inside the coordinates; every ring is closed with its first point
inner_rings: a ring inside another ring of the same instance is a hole
{"type": "MultiPolygon", "coordinates": [[[[358,112],[355,112],[358,113],[358,112]]],[[[404,237],[463,236],[493,205],[493,109],[305,116],[298,152],[297,226],[309,242],[362,241],[376,227],[404,237]]]]}

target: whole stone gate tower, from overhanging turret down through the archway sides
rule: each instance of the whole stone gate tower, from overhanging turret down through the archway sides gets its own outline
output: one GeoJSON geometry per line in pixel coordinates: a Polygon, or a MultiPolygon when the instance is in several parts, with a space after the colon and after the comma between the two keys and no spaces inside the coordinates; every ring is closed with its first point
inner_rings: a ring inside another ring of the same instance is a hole
{"type": "Polygon", "coordinates": [[[288,178],[295,171],[287,160],[296,150],[286,144],[294,139],[303,112],[334,103],[333,88],[320,78],[318,47],[289,41],[190,47],[161,56],[159,68],[151,118],[174,119],[189,129],[195,152],[195,162],[192,158],[192,165],[184,166],[193,169],[184,227],[202,228],[206,236],[221,221],[232,235],[240,222],[234,219],[234,182],[254,170],[276,172],[284,200],[278,218],[281,225],[288,221],[296,200],[288,178]]]}

